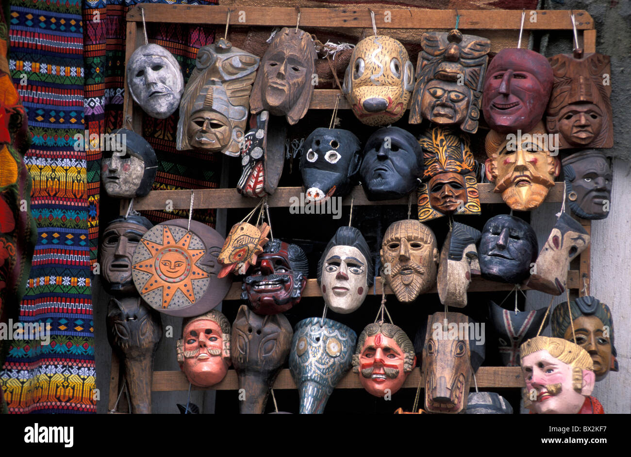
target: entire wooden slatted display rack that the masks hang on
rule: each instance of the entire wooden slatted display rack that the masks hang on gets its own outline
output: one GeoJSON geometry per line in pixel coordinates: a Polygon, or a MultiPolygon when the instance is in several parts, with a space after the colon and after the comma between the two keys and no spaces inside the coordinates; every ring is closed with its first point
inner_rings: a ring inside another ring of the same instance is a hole
{"type": "MultiPolygon", "coordinates": [[[[232,26],[296,26],[296,8],[272,8],[260,6],[194,6],[194,5],[168,5],[168,4],[141,4],[131,8],[127,13],[127,42],[126,64],[134,50],[143,45],[143,14],[146,22],[160,23],[187,23],[203,25],[225,25],[228,17],[228,8],[231,11],[230,25],[232,26]],[[241,12],[245,13],[247,21],[239,22],[241,12]]],[[[423,30],[451,30],[454,26],[456,11],[452,9],[418,9],[418,8],[388,8],[374,9],[376,25],[378,29],[423,29],[423,30]],[[390,12],[391,21],[384,22],[385,11],[390,12]]],[[[579,40],[582,35],[584,52],[596,52],[596,30],[593,18],[584,10],[572,11],[575,14],[576,28],[579,31],[579,40]]],[[[504,9],[463,9],[460,14],[459,30],[507,30],[510,34],[519,32],[521,23],[521,11],[504,9]]],[[[536,22],[524,21],[524,31],[554,31],[572,30],[568,10],[536,10],[536,22]]],[[[300,8],[300,28],[372,28],[369,8],[300,8]]],[[[420,37],[419,37],[420,38],[420,37]]],[[[338,90],[314,90],[309,108],[315,110],[333,110],[338,90]]],[[[127,80],[125,81],[125,105],[128,106],[128,115],[131,115],[133,128],[141,131],[141,112],[129,99],[127,80]],[[135,114],[134,114],[135,113],[135,114]]],[[[350,110],[350,105],[345,98],[339,101],[339,109],[350,110]]],[[[492,184],[478,184],[480,202],[485,204],[504,204],[499,194],[493,193],[492,184]]],[[[302,192],[300,187],[279,187],[274,195],[268,197],[271,207],[288,207],[290,197],[298,196],[302,192]]],[[[350,205],[351,197],[354,205],[407,205],[408,199],[387,200],[382,202],[370,202],[361,187],[355,187],[342,201],[342,205],[350,205]]],[[[136,210],[162,210],[165,200],[172,200],[174,209],[189,209],[191,202],[190,190],[163,190],[152,191],[146,197],[134,200],[136,210]]],[[[563,201],[563,183],[556,183],[551,188],[546,202],[563,201]]],[[[194,208],[252,208],[259,199],[251,199],[240,195],[235,188],[219,188],[195,190],[194,208]]],[[[126,214],[129,200],[121,201],[121,214],[126,214]]],[[[591,234],[591,221],[579,219],[582,226],[591,234]]],[[[589,295],[590,249],[587,247],[581,253],[579,270],[570,270],[567,286],[569,289],[584,289],[589,295]]],[[[381,282],[375,281],[377,286],[370,290],[369,294],[380,295],[381,282]]],[[[473,277],[469,286],[469,292],[481,291],[510,291],[512,284],[501,284],[487,281],[481,277],[473,277]]],[[[528,287],[524,287],[528,289],[528,287]]],[[[239,300],[241,283],[232,284],[224,301],[239,300]]],[[[386,287],[386,293],[392,291],[386,287]]],[[[435,287],[428,293],[436,293],[435,287]]],[[[305,291],[305,297],[321,296],[315,279],[309,279],[305,291]]],[[[420,368],[416,367],[406,379],[404,388],[416,388],[420,377],[420,368]]],[[[520,388],[524,386],[521,369],[519,367],[480,367],[476,373],[476,381],[481,388],[520,388]]],[[[152,391],[186,391],[189,382],[181,371],[154,371],[152,391]]],[[[295,389],[292,376],[288,369],[283,369],[279,374],[274,389],[295,389]]],[[[341,379],[337,388],[363,388],[357,374],[349,372],[341,379]]],[[[192,386],[193,390],[207,390],[192,386]]],[[[237,375],[234,370],[229,370],[221,383],[209,390],[237,390],[237,375]]],[[[119,360],[112,353],[112,365],[110,371],[109,410],[112,410],[119,392],[119,360]]]]}

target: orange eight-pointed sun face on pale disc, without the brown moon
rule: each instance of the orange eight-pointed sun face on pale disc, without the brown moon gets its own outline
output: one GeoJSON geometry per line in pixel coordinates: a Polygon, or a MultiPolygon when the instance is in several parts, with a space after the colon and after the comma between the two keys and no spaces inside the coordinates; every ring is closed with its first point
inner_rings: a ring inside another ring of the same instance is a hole
{"type": "Polygon", "coordinates": [[[157,225],[134,252],[134,283],[155,308],[182,308],[195,303],[208,288],[208,267],[198,262],[206,249],[201,239],[184,228],[157,225]]]}

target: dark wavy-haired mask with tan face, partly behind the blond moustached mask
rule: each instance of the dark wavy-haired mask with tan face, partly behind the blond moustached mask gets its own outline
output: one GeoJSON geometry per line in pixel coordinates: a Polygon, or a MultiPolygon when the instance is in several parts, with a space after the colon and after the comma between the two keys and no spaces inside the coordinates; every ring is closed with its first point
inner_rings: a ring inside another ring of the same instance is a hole
{"type": "Polygon", "coordinates": [[[609,306],[593,296],[585,296],[570,301],[570,308],[572,322],[567,301],[557,304],[550,319],[552,336],[572,341],[573,324],[576,344],[587,351],[594,364],[596,381],[601,381],[610,371],[618,371],[609,306]]]}

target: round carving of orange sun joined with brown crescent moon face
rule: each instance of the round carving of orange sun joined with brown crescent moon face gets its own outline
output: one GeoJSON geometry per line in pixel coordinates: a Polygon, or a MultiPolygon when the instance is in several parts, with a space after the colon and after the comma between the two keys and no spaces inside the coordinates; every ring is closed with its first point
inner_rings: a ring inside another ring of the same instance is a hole
{"type": "Polygon", "coordinates": [[[223,237],[206,224],[172,219],[143,235],[134,252],[136,289],[151,308],[170,316],[199,316],[228,294],[230,277],[219,278],[223,237]]]}

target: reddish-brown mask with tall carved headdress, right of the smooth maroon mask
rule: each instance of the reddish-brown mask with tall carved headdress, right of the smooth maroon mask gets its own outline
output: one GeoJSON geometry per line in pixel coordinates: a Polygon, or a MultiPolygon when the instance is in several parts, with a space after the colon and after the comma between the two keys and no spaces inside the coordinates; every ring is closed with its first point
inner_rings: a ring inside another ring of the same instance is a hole
{"type": "Polygon", "coordinates": [[[611,148],[613,113],[608,55],[591,52],[557,54],[548,58],[554,85],[546,112],[548,132],[559,135],[559,148],[611,148]]]}

